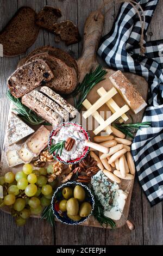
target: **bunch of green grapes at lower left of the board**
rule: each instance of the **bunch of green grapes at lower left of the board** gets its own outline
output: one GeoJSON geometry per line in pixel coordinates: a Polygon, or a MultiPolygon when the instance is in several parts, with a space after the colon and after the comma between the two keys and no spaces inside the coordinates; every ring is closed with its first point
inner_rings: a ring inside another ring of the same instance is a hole
{"type": "MultiPolygon", "coordinates": [[[[50,166],[49,166],[50,167],[50,166]]],[[[22,226],[30,215],[40,215],[43,208],[51,204],[55,182],[48,183],[47,171],[51,168],[34,169],[24,164],[22,171],[0,176],[3,199],[0,206],[8,205],[16,224],[22,226]]]]}

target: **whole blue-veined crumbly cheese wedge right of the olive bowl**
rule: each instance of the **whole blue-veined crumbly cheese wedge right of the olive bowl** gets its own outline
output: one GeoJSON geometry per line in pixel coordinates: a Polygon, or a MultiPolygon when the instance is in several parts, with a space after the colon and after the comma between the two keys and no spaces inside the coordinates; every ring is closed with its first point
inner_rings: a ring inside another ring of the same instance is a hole
{"type": "Polygon", "coordinates": [[[120,220],[128,193],[120,190],[117,183],[112,183],[102,170],[91,179],[93,190],[104,207],[104,215],[112,220],[120,220]]]}

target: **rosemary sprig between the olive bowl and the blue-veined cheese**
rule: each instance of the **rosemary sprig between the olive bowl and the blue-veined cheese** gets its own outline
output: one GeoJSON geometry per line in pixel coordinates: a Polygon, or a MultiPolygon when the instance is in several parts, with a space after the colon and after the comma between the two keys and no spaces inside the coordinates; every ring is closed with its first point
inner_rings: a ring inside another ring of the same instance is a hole
{"type": "Polygon", "coordinates": [[[99,202],[99,200],[97,199],[97,196],[96,196],[95,192],[93,191],[92,187],[91,187],[91,192],[95,199],[95,207],[93,210],[93,216],[95,217],[95,219],[99,222],[99,224],[102,225],[103,228],[104,228],[104,224],[106,225],[106,227],[108,225],[110,225],[110,227],[112,229],[116,228],[116,223],[111,218],[104,216],[103,206],[102,206],[101,202],[99,202]]]}

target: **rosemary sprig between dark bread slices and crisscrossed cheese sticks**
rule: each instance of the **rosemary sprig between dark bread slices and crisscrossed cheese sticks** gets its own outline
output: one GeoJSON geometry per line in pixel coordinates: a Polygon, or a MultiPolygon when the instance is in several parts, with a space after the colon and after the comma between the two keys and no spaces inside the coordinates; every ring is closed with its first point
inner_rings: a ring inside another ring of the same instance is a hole
{"type": "Polygon", "coordinates": [[[104,76],[107,72],[103,69],[101,65],[99,65],[95,71],[86,74],[82,83],[79,83],[77,88],[72,93],[72,97],[74,97],[74,106],[80,111],[82,107],[82,102],[86,99],[87,94],[89,94],[90,90],[96,86],[97,83],[104,80],[104,76]],[[79,94],[79,95],[78,95],[79,94]],[[78,99],[77,96],[78,95],[78,99]]]}

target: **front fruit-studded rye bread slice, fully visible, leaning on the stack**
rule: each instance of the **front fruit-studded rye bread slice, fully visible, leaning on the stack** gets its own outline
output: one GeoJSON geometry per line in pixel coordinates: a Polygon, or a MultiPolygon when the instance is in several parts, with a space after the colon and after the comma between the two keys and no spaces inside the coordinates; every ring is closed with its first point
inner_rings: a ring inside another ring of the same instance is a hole
{"type": "Polygon", "coordinates": [[[29,93],[41,84],[54,77],[48,64],[42,59],[35,59],[18,68],[8,78],[8,87],[11,94],[18,98],[29,93]]]}

